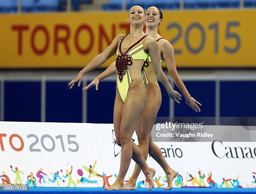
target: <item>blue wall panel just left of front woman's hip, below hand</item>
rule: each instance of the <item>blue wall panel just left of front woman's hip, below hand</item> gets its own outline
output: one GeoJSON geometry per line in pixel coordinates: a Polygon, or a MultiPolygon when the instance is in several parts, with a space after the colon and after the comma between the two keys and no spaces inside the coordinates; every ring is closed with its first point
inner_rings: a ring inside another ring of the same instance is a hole
{"type": "Polygon", "coordinates": [[[113,123],[115,86],[115,81],[102,81],[98,91],[87,91],[87,123],[113,123]]]}

